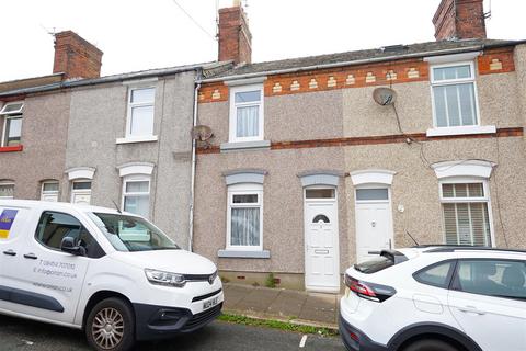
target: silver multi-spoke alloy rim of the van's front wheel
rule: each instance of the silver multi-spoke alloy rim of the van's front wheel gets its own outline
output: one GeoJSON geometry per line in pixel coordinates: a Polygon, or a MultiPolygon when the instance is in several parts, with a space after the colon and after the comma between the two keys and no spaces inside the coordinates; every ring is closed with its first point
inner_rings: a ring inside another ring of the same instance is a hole
{"type": "Polygon", "coordinates": [[[93,318],[93,339],[104,350],[114,349],[124,336],[124,318],[115,308],[104,308],[93,318]]]}

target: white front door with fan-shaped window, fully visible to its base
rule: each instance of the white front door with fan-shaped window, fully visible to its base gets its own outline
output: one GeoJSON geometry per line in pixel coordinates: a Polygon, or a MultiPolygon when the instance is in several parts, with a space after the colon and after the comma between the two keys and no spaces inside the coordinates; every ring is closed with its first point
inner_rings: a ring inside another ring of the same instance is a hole
{"type": "Polygon", "coordinates": [[[340,252],[335,189],[307,189],[305,199],[305,285],[340,291],[340,252]]]}

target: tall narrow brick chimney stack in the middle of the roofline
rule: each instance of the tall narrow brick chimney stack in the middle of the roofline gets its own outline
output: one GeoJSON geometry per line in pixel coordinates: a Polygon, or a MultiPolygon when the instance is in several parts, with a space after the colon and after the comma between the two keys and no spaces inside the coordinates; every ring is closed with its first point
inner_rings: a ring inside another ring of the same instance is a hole
{"type": "Polygon", "coordinates": [[[218,59],[236,64],[252,61],[252,34],[239,0],[233,1],[233,7],[219,10],[218,59]]]}

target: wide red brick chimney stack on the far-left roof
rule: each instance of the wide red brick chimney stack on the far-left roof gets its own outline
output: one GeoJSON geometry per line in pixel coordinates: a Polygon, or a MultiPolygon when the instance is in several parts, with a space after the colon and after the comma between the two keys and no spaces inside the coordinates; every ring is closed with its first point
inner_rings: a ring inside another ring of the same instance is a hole
{"type": "Polygon", "coordinates": [[[65,31],[55,34],[54,73],[65,73],[65,79],[101,77],[103,53],[77,33],[65,31]]]}

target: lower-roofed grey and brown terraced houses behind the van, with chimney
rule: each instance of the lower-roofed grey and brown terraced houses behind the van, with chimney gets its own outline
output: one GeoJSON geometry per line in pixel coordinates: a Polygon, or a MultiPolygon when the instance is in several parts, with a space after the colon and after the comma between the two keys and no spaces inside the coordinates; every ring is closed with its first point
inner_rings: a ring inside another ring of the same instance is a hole
{"type": "Polygon", "coordinates": [[[0,84],[0,196],[118,206],[187,247],[194,82],[218,65],[100,77],[101,65],[67,31],[54,75],[0,84]]]}

